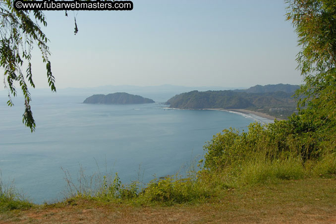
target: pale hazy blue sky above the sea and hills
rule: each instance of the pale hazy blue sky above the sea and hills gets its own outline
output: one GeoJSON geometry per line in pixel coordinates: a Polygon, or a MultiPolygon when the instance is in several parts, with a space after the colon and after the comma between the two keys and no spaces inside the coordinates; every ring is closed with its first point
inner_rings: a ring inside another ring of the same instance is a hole
{"type": "MultiPolygon", "coordinates": [[[[57,88],[301,83],[297,37],[282,0],[133,3],[132,11],[68,11],[68,17],[45,11],[57,88]]],[[[37,88],[48,86],[41,61],[34,53],[37,88]]]]}

